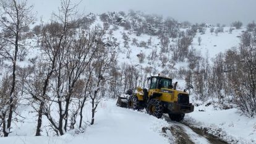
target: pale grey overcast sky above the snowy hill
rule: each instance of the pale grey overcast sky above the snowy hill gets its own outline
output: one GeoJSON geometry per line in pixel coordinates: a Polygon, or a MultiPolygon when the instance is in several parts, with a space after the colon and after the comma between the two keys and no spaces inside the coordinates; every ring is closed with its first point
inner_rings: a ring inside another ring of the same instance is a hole
{"type": "MultiPolygon", "coordinates": [[[[60,0],[28,0],[34,4],[38,17],[49,19],[56,11],[60,0]]],[[[72,0],[79,2],[80,0],[72,0]]],[[[243,23],[256,20],[256,0],[82,0],[79,10],[87,14],[108,11],[142,11],[173,17],[176,20],[229,25],[235,20],[243,23]]]]}

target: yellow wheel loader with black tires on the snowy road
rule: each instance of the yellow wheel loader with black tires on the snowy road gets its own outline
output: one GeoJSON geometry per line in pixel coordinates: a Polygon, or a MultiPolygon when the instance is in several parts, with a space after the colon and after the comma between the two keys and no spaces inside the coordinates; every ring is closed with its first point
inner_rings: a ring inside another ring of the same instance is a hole
{"type": "Polygon", "coordinates": [[[157,118],[163,113],[169,114],[173,121],[181,121],[186,113],[194,111],[194,105],[189,103],[189,93],[176,90],[177,82],[172,85],[168,77],[151,76],[148,78],[149,88],[137,88],[137,93],[127,91],[127,97],[119,96],[117,106],[132,109],[145,108],[148,114],[157,118]]]}

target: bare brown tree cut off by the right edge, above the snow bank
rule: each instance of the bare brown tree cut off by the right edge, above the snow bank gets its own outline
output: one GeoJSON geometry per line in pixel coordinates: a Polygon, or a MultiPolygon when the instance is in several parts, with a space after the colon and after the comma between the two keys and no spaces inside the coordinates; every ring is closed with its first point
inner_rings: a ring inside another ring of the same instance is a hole
{"type": "MultiPolygon", "coordinates": [[[[242,35],[242,37],[243,36],[245,35],[242,35]]],[[[239,67],[236,69],[236,75],[239,77],[236,77],[235,80],[231,81],[236,90],[236,102],[239,105],[239,108],[250,117],[254,117],[256,114],[256,36],[254,35],[252,38],[253,40],[250,44],[241,43],[239,48],[241,59],[237,62],[239,67]]]]}

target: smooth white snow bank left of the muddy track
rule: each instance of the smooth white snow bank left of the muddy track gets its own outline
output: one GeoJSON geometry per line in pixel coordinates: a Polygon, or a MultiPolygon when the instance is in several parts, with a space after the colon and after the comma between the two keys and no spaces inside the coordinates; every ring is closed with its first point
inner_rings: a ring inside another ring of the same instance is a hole
{"type": "MultiPolygon", "coordinates": [[[[90,105],[90,104],[88,104],[90,105]]],[[[87,112],[90,112],[89,107],[87,112]]],[[[88,115],[90,116],[90,115],[88,115]]],[[[88,119],[90,119],[88,117],[88,119]]],[[[169,143],[161,135],[162,127],[168,123],[145,112],[116,106],[116,100],[101,101],[96,112],[95,124],[85,129],[84,133],[68,132],[61,137],[11,136],[0,138],[0,143],[169,143]]],[[[29,131],[24,130],[24,132],[29,131]]],[[[30,135],[30,133],[28,134],[30,135]]]]}

